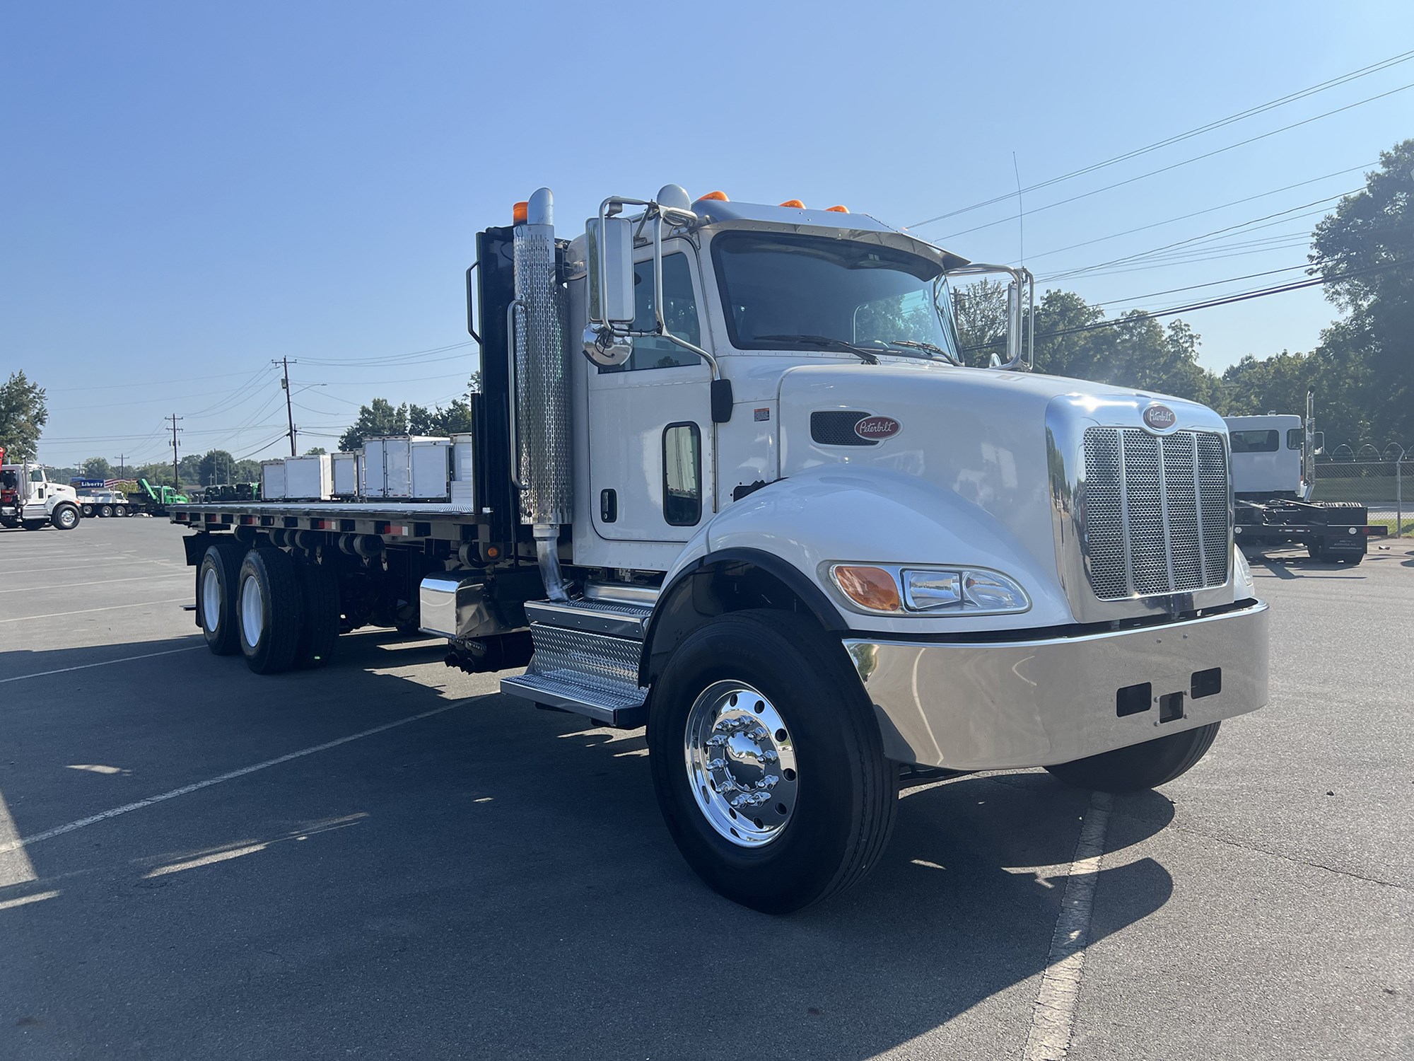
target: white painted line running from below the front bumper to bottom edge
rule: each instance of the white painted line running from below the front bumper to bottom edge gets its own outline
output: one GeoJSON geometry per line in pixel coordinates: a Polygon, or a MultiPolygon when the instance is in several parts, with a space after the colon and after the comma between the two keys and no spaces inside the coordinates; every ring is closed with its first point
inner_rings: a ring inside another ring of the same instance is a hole
{"type": "Polygon", "coordinates": [[[1060,895],[1060,915],[1051,937],[1051,953],[1041,973],[1041,990],[1031,1011],[1027,1036],[1027,1061],[1065,1061],[1075,1030],[1075,1007],[1080,1000],[1080,975],[1085,972],[1085,948],[1090,938],[1090,911],[1094,886],[1104,854],[1104,830],[1110,823],[1110,796],[1096,792],[1080,826],[1075,859],[1060,895]]]}

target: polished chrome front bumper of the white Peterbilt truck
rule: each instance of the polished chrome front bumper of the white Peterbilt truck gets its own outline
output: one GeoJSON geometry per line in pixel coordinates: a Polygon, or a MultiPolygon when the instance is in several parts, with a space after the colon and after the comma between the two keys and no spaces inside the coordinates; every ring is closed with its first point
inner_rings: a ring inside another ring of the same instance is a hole
{"type": "Polygon", "coordinates": [[[1070,763],[1267,703],[1267,605],[1260,601],[1208,618],[1069,638],[846,638],[844,647],[874,702],[885,754],[928,767],[1070,763]],[[1222,671],[1219,692],[1212,692],[1213,669],[1222,671]],[[1208,673],[1195,680],[1199,672],[1208,673]],[[1152,693],[1147,709],[1134,692],[1144,683],[1152,693]],[[1118,713],[1121,689],[1126,714],[1118,713]]]}

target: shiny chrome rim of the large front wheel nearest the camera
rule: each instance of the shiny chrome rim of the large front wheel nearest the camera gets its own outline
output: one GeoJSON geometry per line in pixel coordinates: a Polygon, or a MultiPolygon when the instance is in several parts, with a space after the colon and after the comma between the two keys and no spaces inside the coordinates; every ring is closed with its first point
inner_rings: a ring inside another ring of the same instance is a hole
{"type": "Polygon", "coordinates": [[[687,712],[687,782],[703,818],[738,847],[781,837],[799,792],[795,741],[781,712],[744,682],[715,682],[687,712]]]}

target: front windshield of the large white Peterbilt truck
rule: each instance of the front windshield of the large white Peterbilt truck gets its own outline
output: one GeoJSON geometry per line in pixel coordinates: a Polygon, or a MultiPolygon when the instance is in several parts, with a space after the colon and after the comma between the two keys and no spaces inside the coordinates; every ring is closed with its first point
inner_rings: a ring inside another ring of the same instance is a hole
{"type": "Polygon", "coordinates": [[[899,356],[933,356],[932,347],[957,358],[947,282],[935,262],[785,232],[723,232],[711,248],[737,349],[829,349],[823,338],[899,356]]]}

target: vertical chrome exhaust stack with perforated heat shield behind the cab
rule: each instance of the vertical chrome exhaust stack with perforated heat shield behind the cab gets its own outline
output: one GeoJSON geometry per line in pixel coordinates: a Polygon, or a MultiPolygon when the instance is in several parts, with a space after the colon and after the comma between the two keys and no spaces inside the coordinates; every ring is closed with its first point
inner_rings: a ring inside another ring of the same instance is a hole
{"type": "Polygon", "coordinates": [[[554,197],[540,188],[512,235],[516,297],[508,310],[512,460],[520,522],[533,528],[550,600],[566,600],[557,542],[573,519],[568,306],[556,276],[554,197]]]}

